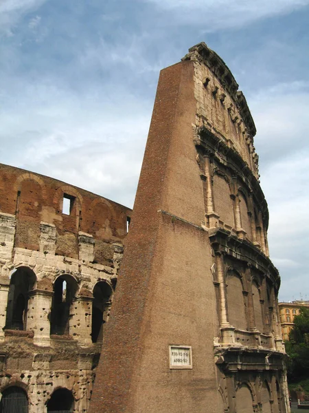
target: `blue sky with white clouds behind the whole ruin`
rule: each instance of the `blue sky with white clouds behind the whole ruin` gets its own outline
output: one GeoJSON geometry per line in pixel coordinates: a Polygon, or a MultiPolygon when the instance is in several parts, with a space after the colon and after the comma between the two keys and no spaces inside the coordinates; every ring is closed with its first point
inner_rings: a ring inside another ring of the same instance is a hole
{"type": "Polygon", "coordinates": [[[309,0],[1,0],[0,162],[133,207],[159,71],[201,41],[251,109],[279,299],[309,299],[309,0]]]}

